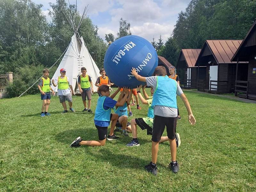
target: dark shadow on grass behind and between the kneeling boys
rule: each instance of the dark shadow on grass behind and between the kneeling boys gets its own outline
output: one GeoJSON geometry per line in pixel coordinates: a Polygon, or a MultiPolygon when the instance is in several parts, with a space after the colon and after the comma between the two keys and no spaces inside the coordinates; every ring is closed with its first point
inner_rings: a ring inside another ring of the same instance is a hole
{"type": "MultiPolygon", "coordinates": [[[[109,129],[108,129],[109,133],[109,129]]],[[[115,133],[116,134],[116,133],[115,133]]],[[[146,132],[145,132],[146,134],[146,132]]],[[[117,140],[118,144],[123,144],[124,146],[129,143],[132,140],[132,134],[130,133],[130,137],[125,137],[122,134],[116,134],[117,136],[120,136],[120,139],[117,140]]],[[[55,138],[57,141],[65,144],[70,144],[73,140],[75,140],[77,137],[81,137],[83,140],[99,140],[98,137],[98,131],[95,128],[80,128],[80,129],[72,129],[72,130],[67,130],[58,133],[55,135],[55,138]]],[[[151,137],[146,139],[140,139],[138,138],[140,145],[143,145],[145,143],[151,143],[151,137]]],[[[109,142],[108,140],[106,142],[109,142]]],[[[110,141],[111,142],[111,141],[110,141]]]]}

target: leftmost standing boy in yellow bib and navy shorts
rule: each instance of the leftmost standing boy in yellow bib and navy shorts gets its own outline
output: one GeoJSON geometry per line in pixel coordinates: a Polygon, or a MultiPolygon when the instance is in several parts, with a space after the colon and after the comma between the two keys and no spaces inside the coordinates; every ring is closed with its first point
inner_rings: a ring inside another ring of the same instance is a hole
{"type": "Polygon", "coordinates": [[[49,70],[44,69],[43,74],[44,74],[44,76],[40,79],[40,81],[37,85],[37,87],[41,93],[41,100],[43,100],[41,117],[51,115],[50,113],[48,113],[48,108],[49,108],[50,99],[51,99],[50,91],[52,91],[52,94],[54,94],[54,91],[50,87],[52,84],[51,84],[51,79],[49,78],[49,70]]]}

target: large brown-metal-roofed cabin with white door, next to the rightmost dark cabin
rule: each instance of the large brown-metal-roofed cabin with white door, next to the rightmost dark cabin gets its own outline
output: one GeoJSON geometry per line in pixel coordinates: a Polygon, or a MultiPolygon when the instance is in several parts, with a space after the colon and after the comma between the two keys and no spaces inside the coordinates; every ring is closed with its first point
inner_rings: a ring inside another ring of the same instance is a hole
{"type": "MultiPolygon", "coordinates": [[[[206,73],[198,74],[197,89],[211,93],[235,91],[236,62],[231,59],[242,40],[206,40],[195,66],[205,67],[206,73]]],[[[245,63],[245,62],[243,62],[245,63]]]]}

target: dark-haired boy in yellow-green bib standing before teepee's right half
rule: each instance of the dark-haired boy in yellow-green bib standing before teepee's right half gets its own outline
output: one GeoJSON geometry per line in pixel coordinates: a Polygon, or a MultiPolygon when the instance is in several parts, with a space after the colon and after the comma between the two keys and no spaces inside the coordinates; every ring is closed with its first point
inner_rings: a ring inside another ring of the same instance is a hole
{"type": "Polygon", "coordinates": [[[80,90],[83,104],[84,104],[84,110],[83,112],[87,111],[92,113],[91,110],[91,103],[92,103],[92,94],[93,94],[93,84],[92,84],[92,79],[89,75],[86,75],[86,68],[82,67],[81,68],[81,75],[78,76],[78,88],[80,90]],[[86,106],[86,97],[88,100],[88,109],[86,106]]]}

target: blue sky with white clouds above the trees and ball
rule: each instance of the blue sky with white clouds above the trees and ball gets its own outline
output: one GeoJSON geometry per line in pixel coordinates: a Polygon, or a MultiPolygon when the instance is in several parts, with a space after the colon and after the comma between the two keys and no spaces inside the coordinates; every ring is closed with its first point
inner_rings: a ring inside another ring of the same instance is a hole
{"type": "MultiPolygon", "coordinates": [[[[49,3],[56,0],[32,0],[43,4],[42,11],[47,20],[49,3]]],[[[164,42],[171,36],[178,19],[178,13],[184,11],[191,0],[77,0],[77,10],[83,13],[89,4],[87,16],[97,25],[98,35],[105,40],[105,34],[112,33],[116,37],[121,17],[130,24],[132,35],[141,36],[148,41],[153,37],[158,42],[161,34],[164,42]]],[[[68,3],[68,0],[66,1],[68,3]]],[[[76,0],[69,0],[76,4],[76,0]]]]}

